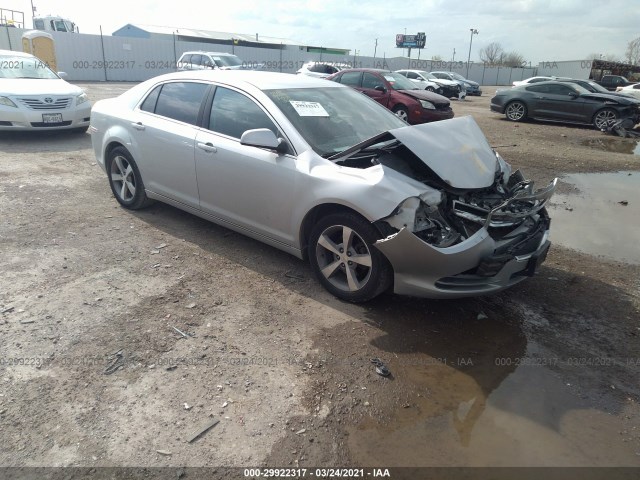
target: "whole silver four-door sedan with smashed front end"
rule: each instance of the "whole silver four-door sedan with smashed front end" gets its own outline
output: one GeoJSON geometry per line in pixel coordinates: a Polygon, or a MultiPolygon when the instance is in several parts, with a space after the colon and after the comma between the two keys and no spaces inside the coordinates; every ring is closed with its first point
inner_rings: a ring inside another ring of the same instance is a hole
{"type": "Polygon", "coordinates": [[[471,117],[409,126],[339,83],[162,75],[97,102],[90,131],[124,207],[161,200],[308,258],[348,301],[499,291],[549,248],[555,181],[534,191],[471,117]]]}

